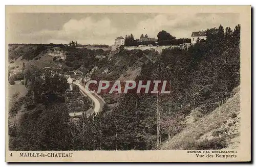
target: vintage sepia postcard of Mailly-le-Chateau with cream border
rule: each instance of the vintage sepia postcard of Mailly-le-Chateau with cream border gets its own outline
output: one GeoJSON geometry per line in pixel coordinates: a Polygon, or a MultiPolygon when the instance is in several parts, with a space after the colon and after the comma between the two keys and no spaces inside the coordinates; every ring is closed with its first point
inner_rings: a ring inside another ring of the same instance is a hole
{"type": "Polygon", "coordinates": [[[251,6],[6,6],[6,161],[250,161],[250,65],[251,6]]]}

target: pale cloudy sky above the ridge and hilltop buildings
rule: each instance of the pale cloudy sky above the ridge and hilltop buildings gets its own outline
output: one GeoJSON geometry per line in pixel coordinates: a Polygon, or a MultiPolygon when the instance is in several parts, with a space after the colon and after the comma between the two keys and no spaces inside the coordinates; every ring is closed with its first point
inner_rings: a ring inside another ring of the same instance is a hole
{"type": "Polygon", "coordinates": [[[191,32],[239,24],[237,13],[15,13],[9,17],[10,43],[114,44],[118,36],[147,34],[157,39],[159,31],[177,38],[191,32]]]}

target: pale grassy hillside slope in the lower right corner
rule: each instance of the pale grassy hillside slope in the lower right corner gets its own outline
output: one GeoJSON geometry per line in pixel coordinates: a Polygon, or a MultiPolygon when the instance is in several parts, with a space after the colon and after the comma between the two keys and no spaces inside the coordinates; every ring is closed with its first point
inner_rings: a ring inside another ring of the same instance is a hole
{"type": "Polygon", "coordinates": [[[240,87],[226,103],[164,142],[160,149],[233,149],[240,141],[240,87]]]}

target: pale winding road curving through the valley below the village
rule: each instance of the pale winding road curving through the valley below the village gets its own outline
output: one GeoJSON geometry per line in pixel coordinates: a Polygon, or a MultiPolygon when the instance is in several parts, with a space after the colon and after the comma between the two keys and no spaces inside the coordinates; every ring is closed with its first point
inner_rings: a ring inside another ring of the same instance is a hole
{"type": "MultiPolygon", "coordinates": [[[[101,99],[96,93],[92,93],[92,94],[88,93],[86,91],[86,89],[77,80],[75,82],[73,82],[73,84],[75,84],[79,87],[80,93],[84,97],[89,97],[91,100],[93,100],[94,108],[90,108],[86,112],[70,113],[69,116],[74,117],[74,116],[82,115],[83,113],[86,114],[86,113],[93,113],[93,112],[95,112],[97,114],[102,111],[102,107],[105,103],[103,101],[103,99],[101,99]]],[[[89,88],[88,88],[88,90],[89,90],[89,88]]]]}

